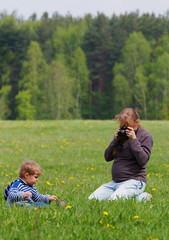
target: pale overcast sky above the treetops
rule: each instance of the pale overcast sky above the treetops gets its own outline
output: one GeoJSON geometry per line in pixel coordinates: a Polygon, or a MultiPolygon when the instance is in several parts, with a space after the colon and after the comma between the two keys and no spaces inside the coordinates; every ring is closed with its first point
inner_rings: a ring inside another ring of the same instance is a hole
{"type": "Polygon", "coordinates": [[[54,12],[65,16],[68,12],[73,17],[83,17],[87,13],[96,16],[98,12],[111,17],[139,10],[140,14],[155,13],[164,15],[169,10],[169,0],[0,0],[0,12],[11,14],[17,12],[17,16],[28,19],[33,13],[38,18],[46,11],[49,17],[54,12]]]}

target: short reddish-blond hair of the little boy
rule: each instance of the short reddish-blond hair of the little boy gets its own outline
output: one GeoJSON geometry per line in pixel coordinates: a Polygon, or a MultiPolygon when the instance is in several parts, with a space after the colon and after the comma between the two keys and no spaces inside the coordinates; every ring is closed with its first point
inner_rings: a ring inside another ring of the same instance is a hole
{"type": "Polygon", "coordinates": [[[23,178],[25,176],[25,173],[29,173],[30,175],[36,173],[40,175],[42,173],[42,169],[38,163],[32,160],[28,160],[22,163],[19,167],[19,177],[23,178]]]}

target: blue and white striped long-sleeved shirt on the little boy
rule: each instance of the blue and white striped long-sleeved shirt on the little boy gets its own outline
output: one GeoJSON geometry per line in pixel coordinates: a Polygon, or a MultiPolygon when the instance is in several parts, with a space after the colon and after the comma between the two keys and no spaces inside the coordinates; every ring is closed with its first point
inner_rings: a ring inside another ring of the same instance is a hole
{"type": "Polygon", "coordinates": [[[44,202],[49,203],[50,195],[42,195],[36,187],[27,185],[21,178],[11,182],[4,191],[4,199],[7,201],[7,206],[16,202],[44,202]],[[23,198],[24,192],[31,192],[30,198],[23,198]]]}

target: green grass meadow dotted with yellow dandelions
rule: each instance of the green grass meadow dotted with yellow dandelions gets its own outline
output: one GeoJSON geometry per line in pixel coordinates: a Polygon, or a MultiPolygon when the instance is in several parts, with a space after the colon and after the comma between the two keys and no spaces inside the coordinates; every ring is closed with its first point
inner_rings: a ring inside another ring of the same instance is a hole
{"type": "Polygon", "coordinates": [[[147,167],[151,202],[89,201],[90,193],[111,180],[104,150],[114,121],[0,121],[0,240],[169,239],[169,122],[142,121],[154,139],[147,167]],[[44,172],[37,188],[55,194],[68,208],[6,207],[3,192],[26,159],[44,172]]]}

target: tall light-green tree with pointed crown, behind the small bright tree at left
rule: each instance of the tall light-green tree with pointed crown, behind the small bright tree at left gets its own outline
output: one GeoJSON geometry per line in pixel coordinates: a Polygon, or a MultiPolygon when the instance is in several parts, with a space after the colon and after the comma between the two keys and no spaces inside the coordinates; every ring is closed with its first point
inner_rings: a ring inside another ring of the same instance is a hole
{"type": "Polygon", "coordinates": [[[29,90],[31,94],[31,104],[35,109],[35,119],[44,117],[44,84],[46,81],[46,62],[42,51],[37,42],[31,42],[26,60],[23,62],[21,70],[21,79],[19,81],[20,89],[29,90]]]}

